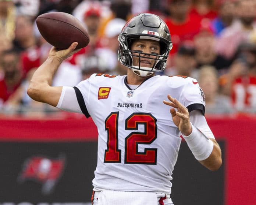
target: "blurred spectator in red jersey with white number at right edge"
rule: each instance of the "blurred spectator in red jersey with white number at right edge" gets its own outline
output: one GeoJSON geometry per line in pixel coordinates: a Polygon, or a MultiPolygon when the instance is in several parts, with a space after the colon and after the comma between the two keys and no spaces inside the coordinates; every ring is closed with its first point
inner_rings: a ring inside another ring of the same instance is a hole
{"type": "Polygon", "coordinates": [[[232,103],[238,111],[256,112],[256,44],[240,46],[238,61],[246,70],[233,77],[231,85],[232,103]]]}

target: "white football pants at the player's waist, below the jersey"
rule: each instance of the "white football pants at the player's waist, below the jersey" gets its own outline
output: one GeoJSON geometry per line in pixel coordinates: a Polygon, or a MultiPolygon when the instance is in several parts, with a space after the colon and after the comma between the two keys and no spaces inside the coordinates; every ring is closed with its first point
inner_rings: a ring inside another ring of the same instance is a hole
{"type": "Polygon", "coordinates": [[[92,205],[173,205],[164,193],[136,191],[93,191],[92,205]]]}

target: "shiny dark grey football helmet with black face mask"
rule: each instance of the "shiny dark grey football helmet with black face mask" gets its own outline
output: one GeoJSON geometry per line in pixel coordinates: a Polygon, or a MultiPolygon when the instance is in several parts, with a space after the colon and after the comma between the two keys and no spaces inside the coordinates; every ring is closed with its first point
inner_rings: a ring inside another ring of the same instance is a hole
{"type": "Polygon", "coordinates": [[[118,41],[118,60],[121,64],[132,68],[136,75],[142,77],[152,75],[153,72],[163,71],[166,67],[168,54],[173,47],[170,31],[166,23],[159,16],[148,13],[139,14],[130,19],[122,28],[118,41]],[[132,41],[136,38],[159,41],[160,53],[143,53],[139,50],[131,51],[132,41]],[[139,66],[133,65],[132,56],[139,57],[139,66]],[[153,67],[140,66],[141,58],[144,58],[144,60],[145,58],[154,59],[153,67]]]}

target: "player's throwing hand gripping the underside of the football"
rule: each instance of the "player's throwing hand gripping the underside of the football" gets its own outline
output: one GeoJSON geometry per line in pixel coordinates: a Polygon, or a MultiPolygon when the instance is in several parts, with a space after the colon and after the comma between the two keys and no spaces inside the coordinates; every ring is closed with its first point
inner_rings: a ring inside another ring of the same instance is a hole
{"type": "Polygon", "coordinates": [[[48,57],[53,57],[61,62],[63,60],[67,59],[68,57],[72,56],[74,53],[80,51],[81,49],[75,49],[78,45],[78,42],[73,42],[69,48],[64,49],[64,50],[58,50],[55,47],[52,47],[48,57]]]}

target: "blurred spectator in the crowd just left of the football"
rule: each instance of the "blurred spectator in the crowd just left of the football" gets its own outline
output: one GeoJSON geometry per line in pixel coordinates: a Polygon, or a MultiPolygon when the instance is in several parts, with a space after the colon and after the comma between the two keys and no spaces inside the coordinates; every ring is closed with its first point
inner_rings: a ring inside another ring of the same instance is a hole
{"type": "Polygon", "coordinates": [[[33,21],[31,17],[19,15],[16,17],[15,23],[14,48],[22,52],[35,47],[37,40],[33,31],[33,21]]]}

